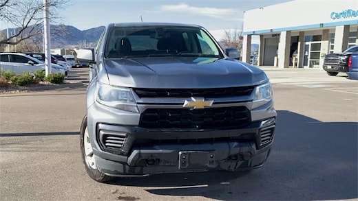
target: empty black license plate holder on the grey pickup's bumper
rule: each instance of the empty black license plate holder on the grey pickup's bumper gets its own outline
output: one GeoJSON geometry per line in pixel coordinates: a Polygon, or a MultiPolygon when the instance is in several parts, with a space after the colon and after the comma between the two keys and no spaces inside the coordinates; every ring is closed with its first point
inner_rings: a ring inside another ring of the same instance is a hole
{"type": "Polygon", "coordinates": [[[213,151],[180,151],[179,169],[202,169],[215,167],[213,151]]]}

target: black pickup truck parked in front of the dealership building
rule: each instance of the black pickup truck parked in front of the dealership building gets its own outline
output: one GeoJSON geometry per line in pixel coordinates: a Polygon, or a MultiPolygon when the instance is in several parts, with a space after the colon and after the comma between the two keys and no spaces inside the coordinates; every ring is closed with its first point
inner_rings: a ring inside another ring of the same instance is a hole
{"type": "Polygon", "coordinates": [[[327,54],[324,57],[323,69],[330,76],[335,76],[338,73],[348,73],[352,52],[358,51],[358,45],[352,46],[342,53],[327,54]]]}

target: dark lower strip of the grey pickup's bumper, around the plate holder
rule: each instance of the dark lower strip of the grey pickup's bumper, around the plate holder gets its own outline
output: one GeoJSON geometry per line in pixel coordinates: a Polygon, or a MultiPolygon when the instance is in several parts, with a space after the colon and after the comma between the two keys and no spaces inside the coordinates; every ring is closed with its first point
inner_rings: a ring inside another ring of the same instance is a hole
{"type": "Polygon", "coordinates": [[[207,143],[200,145],[158,145],[134,150],[126,162],[95,155],[99,171],[109,176],[147,176],[173,172],[235,171],[261,167],[271,145],[256,150],[254,143],[207,143]],[[188,154],[189,153],[189,154],[188,154]],[[186,155],[184,155],[186,154],[186,155]],[[197,154],[197,156],[189,156],[197,154]],[[212,158],[211,158],[212,154],[212,158]],[[186,156],[187,161],[183,160],[186,156]],[[185,163],[185,165],[182,165],[185,163]]]}

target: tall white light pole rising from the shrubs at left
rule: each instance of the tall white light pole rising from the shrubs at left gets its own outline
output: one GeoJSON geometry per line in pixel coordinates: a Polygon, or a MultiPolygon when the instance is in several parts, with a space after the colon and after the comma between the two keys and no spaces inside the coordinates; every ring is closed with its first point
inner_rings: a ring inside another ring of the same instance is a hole
{"type": "Polygon", "coordinates": [[[48,19],[48,0],[43,0],[43,45],[45,47],[45,76],[51,73],[50,21],[48,19]]]}

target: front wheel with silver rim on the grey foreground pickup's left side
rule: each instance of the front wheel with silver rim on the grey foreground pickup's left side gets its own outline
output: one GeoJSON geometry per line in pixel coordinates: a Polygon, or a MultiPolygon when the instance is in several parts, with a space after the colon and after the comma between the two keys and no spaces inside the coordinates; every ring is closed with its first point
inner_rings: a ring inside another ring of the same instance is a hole
{"type": "Polygon", "coordinates": [[[91,139],[89,138],[88,128],[87,128],[87,117],[83,118],[81,124],[80,132],[80,147],[83,163],[85,165],[86,172],[90,178],[98,182],[106,182],[112,180],[112,176],[107,176],[100,172],[96,167],[96,162],[94,161],[94,154],[91,145],[91,139]]]}

